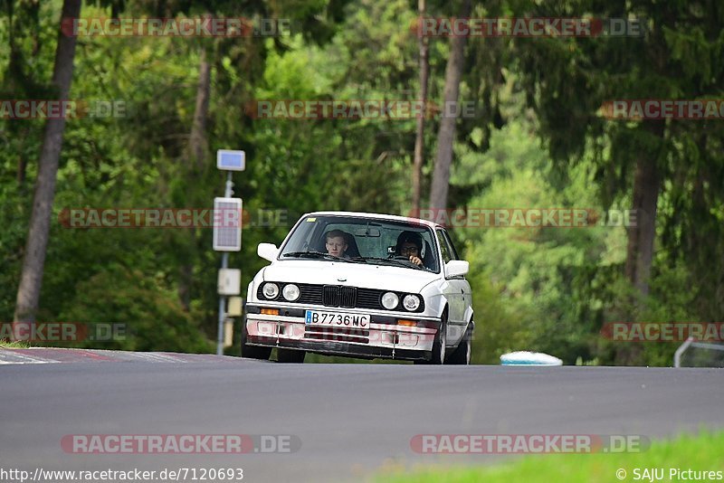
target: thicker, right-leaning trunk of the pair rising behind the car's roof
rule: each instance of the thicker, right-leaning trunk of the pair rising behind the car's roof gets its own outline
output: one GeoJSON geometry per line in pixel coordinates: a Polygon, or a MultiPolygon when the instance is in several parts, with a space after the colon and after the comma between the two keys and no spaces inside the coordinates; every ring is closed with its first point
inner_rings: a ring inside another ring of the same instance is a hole
{"type": "MultiPolygon", "coordinates": [[[[467,18],[471,12],[471,1],[464,0],[460,16],[467,18]]],[[[450,43],[450,57],[445,66],[445,88],[443,92],[443,113],[447,106],[457,102],[460,94],[460,80],[464,63],[465,41],[464,35],[454,36],[450,43]]],[[[437,156],[435,156],[435,169],[433,172],[433,187],[430,193],[430,206],[432,208],[446,208],[447,194],[450,187],[450,166],[452,164],[452,143],[455,140],[454,117],[444,117],[440,121],[440,130],[437,133],[437,156]]]]}

